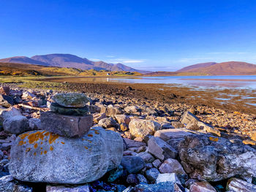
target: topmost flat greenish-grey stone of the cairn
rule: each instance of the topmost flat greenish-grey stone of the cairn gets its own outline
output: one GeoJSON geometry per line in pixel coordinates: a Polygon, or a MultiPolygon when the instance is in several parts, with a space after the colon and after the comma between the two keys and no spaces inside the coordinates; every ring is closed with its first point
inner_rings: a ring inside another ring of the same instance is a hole
{"type": "Polygon", "coordinates": [[[86,107],[91,100],[83,93],[58,93],[53,101],[63,107],[86,107]]]}

